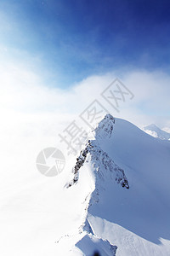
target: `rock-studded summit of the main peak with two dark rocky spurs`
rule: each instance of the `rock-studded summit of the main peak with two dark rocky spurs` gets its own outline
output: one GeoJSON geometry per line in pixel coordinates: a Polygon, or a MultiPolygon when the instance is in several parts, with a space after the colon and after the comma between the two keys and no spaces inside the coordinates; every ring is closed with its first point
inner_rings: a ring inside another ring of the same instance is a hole
{"type": "Polygon", "coordinates": [[[115,125],[115,119],[111,114],[105,115],[105,118],[99,123],[98,127],[94,130],[95,139],[89,140],[86,147],[82,149],[79,157],[77,157],[77,163],[73,168],[74,177],[72,181],[67,185],[71,185],[78,182],[79,172],[84,163],[90,160],[92,165],[92,171],[94,172],[96,187],[99,186],[101,178],[105,179],[109,177],[114,178],[116,183],[121,184],[122,187],[129,189],[127,177],[125,176],[122,168],[116,165],[114,160],[111,159],[100,145],[101,140],[111,138],[113,135],[115,125]]]}

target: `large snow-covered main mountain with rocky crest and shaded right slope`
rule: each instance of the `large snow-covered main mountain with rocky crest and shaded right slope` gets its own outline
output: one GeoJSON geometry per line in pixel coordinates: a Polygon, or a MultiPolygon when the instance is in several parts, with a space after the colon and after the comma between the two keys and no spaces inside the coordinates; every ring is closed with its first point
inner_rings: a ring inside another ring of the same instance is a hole
{"type": "Polygon", "coordinates": [[[69,189],[91,184],[82,202],[82,238],[73,255],[88,256],[83,250],[95,239],[108,242],[111,255],[170,255],[169,156],[170,143],[105,116],[67,184],[69,189]]]}

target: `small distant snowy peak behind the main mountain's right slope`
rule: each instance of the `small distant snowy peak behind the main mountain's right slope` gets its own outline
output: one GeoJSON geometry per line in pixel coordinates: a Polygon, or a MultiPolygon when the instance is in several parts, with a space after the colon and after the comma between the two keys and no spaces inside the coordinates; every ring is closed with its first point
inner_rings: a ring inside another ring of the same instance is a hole
{"type": "Polygon", "coordinates": [[[160,138],[161,140],[169,140],[170,139],[170,133],[168,133],[167,131],[161,130],[159,127],[157,127],[154,124],[145,126],[144,131],[153,137],[160,138]]]}

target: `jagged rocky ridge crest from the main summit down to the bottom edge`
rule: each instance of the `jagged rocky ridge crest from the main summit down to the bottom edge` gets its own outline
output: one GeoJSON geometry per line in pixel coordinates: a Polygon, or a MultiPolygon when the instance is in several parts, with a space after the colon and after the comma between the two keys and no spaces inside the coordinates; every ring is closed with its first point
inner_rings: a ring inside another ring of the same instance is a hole
{"type": "MultiPolygon", "coordinates": [[[[117,247],[112,245],[106,239],[101,239],[101,237],[94,235],[91,225],[88,222],[88,209],[94,203],[99,202],[100,192],[105,190],[103,183],[105,180],[111,180],[112,183],[116,181],[120,184],[122,188],[129,189],[129,184],[127,177],[119,166],[116,165],[114,160],[111,159],[109,154],[107,154],[99,144],[99,141],[108,138],[110,139],[114,131],[115,119],[107,114],[105,119],[103,119],[98,127],[94,130],[94,140],[89,140],[84,149],[82,149],[79,157],[77,157],[77,163],[73,168],[73,179],[70,183],[66,185],[70,188],[79,181],[79,172],[81,168],[86,164],[90,163],[91,171],[94,173],[94,191],[91,193],[90,197],[85,200],[85,212],[84,212],[84,222],[80,227],[80,233],[84,233],[83,238],[77,242],[77,247],[82,250],[85,255],[92,255],[95,249],[99,249],[99,252],[103,256],[115,256],[117,247]]],[[[114,183],[113,183],[114,185],[114,183]]]]}

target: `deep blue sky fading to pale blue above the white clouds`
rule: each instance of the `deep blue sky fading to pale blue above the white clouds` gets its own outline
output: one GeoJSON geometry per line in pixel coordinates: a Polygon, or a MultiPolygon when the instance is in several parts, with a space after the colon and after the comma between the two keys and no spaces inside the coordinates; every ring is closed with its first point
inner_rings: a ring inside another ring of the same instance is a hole
{"type": "Polygon", "coordinates": [[[169,9],[165,0],[1,1],[0,54],[61,88],[116,69],[169,73],[169,9]]]}

